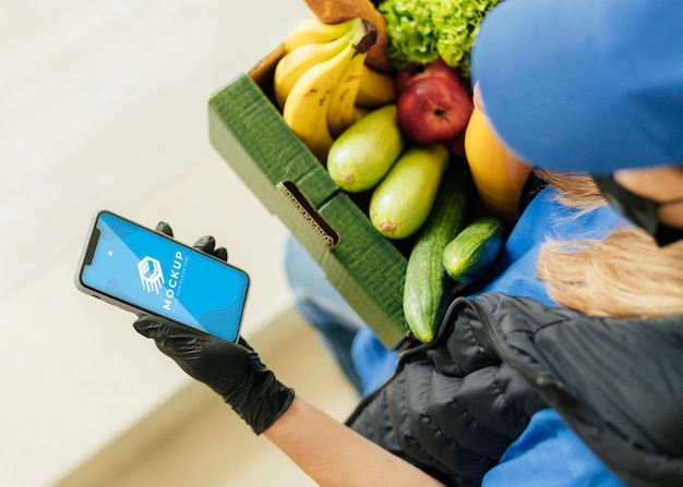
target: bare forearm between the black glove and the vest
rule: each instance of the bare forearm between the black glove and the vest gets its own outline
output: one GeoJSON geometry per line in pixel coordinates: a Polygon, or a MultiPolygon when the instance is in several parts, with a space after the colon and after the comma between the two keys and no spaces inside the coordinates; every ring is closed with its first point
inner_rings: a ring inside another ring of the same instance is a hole
{"type": "Polygon", "coordinates": [[[264,436],[323,487],[443,485],[299,397],[264,436]]]}

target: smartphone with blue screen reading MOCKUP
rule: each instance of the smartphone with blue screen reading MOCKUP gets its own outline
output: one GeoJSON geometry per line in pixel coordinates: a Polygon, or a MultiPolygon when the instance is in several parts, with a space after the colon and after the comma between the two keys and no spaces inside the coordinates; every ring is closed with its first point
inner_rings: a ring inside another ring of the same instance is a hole
{"type": "Polygon", "coordinates": [[[123,309],[237,341],[249,276],[110,211],[93,217],[75,284],[123,309]]]}

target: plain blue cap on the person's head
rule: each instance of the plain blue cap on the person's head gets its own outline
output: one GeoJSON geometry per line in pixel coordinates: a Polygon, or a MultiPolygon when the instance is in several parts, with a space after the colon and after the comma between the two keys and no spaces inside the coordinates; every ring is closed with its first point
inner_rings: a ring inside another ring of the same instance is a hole
{"type": "Polygon", "coordinates": [[[472,84],[505,145],[561,172],[683,162],[683,1],[504,0],[472,84]]]}

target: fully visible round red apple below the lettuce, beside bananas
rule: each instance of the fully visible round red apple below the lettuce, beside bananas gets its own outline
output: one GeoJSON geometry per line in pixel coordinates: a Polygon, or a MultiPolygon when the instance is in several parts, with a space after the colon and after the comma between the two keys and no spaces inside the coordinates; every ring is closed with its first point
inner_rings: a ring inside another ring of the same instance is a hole
{"type": "Polygon", "coordinates": [[[398,125],[417,144],[447,143],[462,132],[474,109],[459,78],[422,75],[398,95],[398,125]]]}

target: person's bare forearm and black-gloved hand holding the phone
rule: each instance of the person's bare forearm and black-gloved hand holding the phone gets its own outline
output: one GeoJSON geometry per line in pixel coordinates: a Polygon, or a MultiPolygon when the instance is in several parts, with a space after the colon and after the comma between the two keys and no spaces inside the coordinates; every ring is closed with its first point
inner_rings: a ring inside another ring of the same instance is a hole
{"type": "MultiPolygon", "coordinates": [[[[172,234],[166,223],[157,230],[172,234]]],[[[216,248],[211,236],[200,239],[194,247],[227,259],[227,251],[216,248]]],[[[244,340],[230,343],[156,316],[139,318],[134,327],[188,375],[218,393],[256,435],[264,434],[319,485],[442,485],[296,397],[244,340]]]]}

